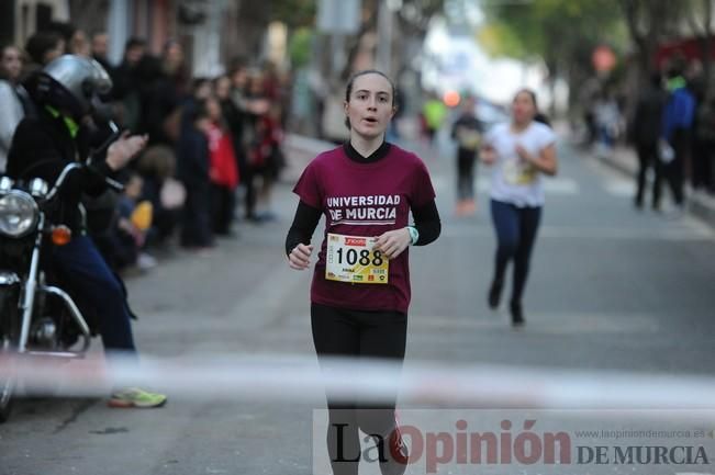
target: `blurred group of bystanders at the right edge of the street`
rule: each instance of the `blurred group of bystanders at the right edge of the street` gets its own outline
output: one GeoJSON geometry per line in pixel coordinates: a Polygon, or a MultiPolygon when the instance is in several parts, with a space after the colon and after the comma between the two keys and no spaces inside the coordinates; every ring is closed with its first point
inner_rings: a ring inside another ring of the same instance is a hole
{"type": "Polygon", "coordinates": [[[596,154],[611,155],[618,142],[633,144],[638,157],[634,204],[644,206],[647,176],[652,173],[650,205],[661,210],[662,182],[683,212],[684,186],[715,194],[715,102],[697,60],[675,56],[653,71],[648,86],[634,98],[633,111],[614,87],[593,80],[581,94],[585,143],[596,154]]]}

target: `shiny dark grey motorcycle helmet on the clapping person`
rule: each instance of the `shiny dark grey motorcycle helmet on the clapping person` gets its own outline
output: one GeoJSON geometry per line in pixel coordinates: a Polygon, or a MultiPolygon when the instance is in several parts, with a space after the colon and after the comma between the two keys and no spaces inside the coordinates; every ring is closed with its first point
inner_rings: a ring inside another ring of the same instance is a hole
{"type": "Polygon", "coordinates": [[[112,89],[112,80],[94,59],[63,55],[32,75],[25,88],[37,103],[79,121],[101,106],[99,95],[112,89]]]}

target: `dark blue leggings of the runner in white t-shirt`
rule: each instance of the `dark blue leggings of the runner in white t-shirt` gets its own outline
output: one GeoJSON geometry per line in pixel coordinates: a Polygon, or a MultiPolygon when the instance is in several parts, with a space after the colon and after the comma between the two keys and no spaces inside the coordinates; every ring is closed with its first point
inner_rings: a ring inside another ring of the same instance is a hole
{"type": "Polygon", "coordinates": [[[536,234],[541,218],[541,207],[517,207],[510,203],[492,200],[492,222],[496,230],[496,256],[494,257],[494,281],[504,281],[506,264],[514,260],[513,304],[522,303],[526,286],[528,264],[536,234]]]}

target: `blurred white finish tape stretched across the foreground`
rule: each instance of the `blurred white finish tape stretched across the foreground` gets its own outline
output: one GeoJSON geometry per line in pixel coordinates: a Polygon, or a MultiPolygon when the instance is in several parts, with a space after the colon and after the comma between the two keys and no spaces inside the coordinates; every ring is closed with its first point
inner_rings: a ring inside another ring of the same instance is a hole
{"type": "Polygon", "coordinates": [[[149,386],[187,399],[378,402],[400,394],[410,404],[539,409],[697,409],[715,414],[715,378],[606,371],[306,355],[134,358],[100,354],[58,361],[0,355],[0,380],[16,377],[26,394],[102,396],[112,387],[149,386]]]}

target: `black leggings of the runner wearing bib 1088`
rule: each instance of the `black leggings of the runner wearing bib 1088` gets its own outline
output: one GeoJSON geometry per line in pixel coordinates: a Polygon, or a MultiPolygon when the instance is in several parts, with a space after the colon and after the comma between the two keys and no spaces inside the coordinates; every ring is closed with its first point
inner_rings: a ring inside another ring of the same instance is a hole
{"type": "MultiPolygon", "coordinates": [[[[325,357],[393,359],[400,363],[404,359],[405,314],[312,304],[311,323],[315,352],[324,371],[329,371],[325,357]]],[[[383,439],[395,429],[395,402],[396,394],[381,404],[358,405],[355,400],[338,399],[327,393],[327,451],[335,475],[357,475],[360,457],[358,429],[383,439]]]]}

